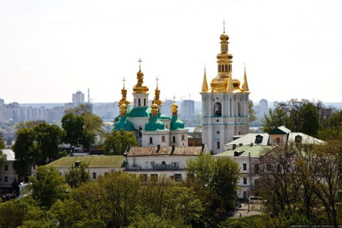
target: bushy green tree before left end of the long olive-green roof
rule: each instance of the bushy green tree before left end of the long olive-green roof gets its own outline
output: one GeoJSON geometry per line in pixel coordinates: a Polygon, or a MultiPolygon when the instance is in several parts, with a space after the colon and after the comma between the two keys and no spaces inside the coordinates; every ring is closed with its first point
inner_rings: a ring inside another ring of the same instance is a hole
{"type": "Polygon", "coordinates": [[[58,199],[63,199],[66,195],[66,185],[63,177],[53,166],[39,166],[36,177],[29,177],[32,185],[28,190],[32,190],[33,199],[38,200],[41,207],[50,208],[58,199]]]}

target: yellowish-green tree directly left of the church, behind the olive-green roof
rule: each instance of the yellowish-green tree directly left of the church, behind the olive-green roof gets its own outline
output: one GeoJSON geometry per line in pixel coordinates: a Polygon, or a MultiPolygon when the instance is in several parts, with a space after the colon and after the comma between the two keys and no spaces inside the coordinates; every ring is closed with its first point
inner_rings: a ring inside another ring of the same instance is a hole
{"type": "Polygon", "coordinates": [[[105,155],[123,155],[128,145],[139,146],[134,133],[126,132],[123,129],[113,130],[105,136],[103,149],[105,155]]]}

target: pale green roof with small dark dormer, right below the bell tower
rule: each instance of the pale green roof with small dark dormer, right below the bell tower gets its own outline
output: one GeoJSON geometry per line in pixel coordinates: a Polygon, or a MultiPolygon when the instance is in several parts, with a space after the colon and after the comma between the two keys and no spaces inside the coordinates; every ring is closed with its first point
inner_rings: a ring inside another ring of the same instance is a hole
{"type": "Polygon", "coordinates": [[[242,145],[240,147],[236,147],[234,150],[220,152],[219,154],[214,155],[214,157],[249,157],[249,153],[251,153],[251,157],[260,157],[264,152],[273,148],[274,146],[242,145]],[[234,156],[236,152],[239,156],[234,156]]]}

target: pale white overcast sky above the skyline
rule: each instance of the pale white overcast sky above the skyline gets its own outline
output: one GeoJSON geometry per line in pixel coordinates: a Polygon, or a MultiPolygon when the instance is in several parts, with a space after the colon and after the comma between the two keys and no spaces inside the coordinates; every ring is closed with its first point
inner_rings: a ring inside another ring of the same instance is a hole
{"type": "Polygon", "coordinates": [[[201,100],[229,35],[233,78],[249,98],[342,102],[342,1],[0,0],[0,98],[68,103],[133,100],[138,60],[154,96],[201,100]]]}

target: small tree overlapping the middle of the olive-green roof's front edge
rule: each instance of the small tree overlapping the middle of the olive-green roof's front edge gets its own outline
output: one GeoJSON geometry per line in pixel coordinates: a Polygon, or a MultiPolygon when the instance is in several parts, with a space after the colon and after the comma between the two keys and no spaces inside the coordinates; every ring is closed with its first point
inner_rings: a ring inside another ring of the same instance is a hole
{"type": "Polygon", "coordinates": [[[90,179],[89,172],[87,171],[88,164],[81,162],[80,166],[72,167],[69,172],[66,172],[64,177],[66,178],[66,182],[70,187],[76,188],[86,183],[90,179]]]}

